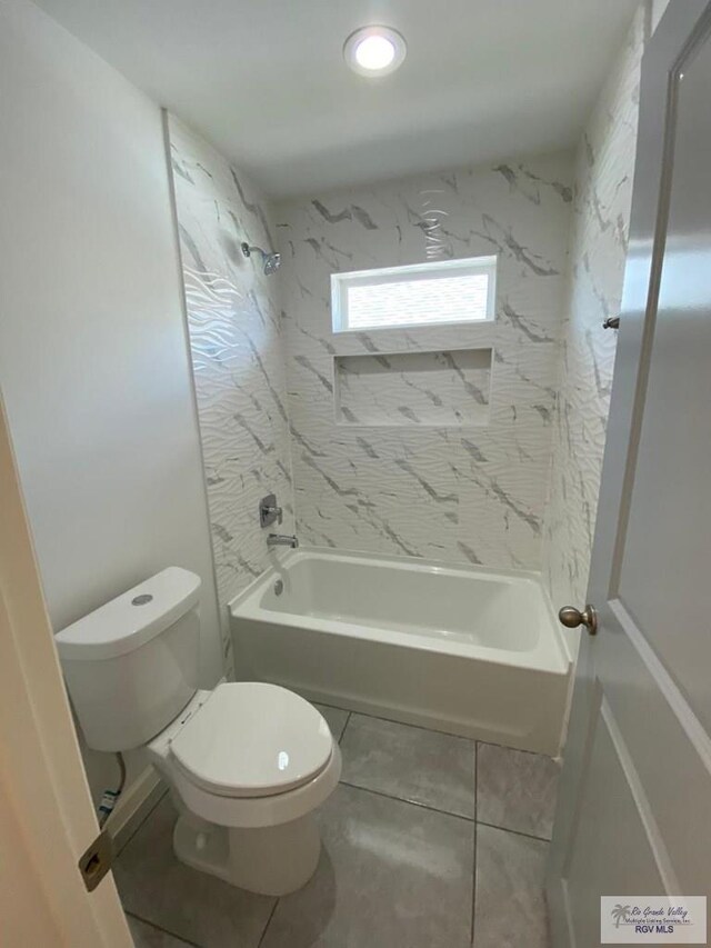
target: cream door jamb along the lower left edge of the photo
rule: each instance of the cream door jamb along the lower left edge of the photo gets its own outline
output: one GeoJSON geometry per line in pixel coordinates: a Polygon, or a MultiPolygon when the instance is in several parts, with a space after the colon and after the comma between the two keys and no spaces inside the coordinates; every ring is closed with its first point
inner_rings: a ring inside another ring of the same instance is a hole
{"type": "Polygon", "coordinates": [[[98,834],[0,398],[0,945],[130,948],[111,874],[88,892],[98,834]]]}

